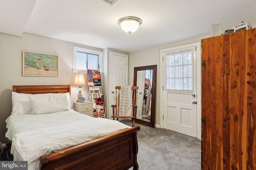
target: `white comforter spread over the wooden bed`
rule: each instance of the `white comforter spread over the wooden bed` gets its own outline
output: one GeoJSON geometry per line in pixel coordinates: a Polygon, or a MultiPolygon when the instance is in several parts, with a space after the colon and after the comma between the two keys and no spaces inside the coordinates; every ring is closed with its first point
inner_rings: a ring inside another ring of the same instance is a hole
{"type": "MultiPolygon", "coordinates": [[[[6,119],[6,137],[28,164],[44,154],[79,145],[124,130],[118,121],[94,118],[68,110],[41,115],[16,115],[6,119]]],[[[12,146],[12,147],[13,147],[12,146]]],[[[12,149],[12,154],[15,150],[12,149]]]]}

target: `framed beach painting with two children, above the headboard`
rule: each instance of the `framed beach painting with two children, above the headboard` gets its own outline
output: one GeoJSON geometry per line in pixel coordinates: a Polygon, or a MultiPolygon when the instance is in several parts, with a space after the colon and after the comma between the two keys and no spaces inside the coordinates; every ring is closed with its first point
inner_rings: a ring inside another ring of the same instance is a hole
{"type": "Polygon", "coordinates": [[[23,76],[58,76],[58,55],[23,51],[23,76]]]}

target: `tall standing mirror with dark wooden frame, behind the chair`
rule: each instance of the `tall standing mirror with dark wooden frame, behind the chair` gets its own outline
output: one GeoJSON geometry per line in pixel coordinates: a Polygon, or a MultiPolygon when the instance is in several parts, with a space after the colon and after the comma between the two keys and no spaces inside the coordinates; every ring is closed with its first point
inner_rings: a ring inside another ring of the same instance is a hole
{"type": "Polygon", "coordinates": [[[156,65],[134,67],[133,85],[139,87],[135,122],[155,127],[156,65]]]}

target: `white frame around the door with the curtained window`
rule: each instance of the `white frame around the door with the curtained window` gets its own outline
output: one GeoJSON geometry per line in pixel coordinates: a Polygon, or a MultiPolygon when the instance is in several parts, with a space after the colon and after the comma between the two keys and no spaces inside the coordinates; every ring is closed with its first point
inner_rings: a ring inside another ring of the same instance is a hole
{"type": "Polygon", "coordinates": [[[164,127],[164,56],[163,53],[172,50],[179,50],[184,48],[196,47],[196,91],[197,91],[197,101],[198,104],[196,105],[196,129],[197,129],[197,138],[201,139],[201,43],[189,43],[185,45],[179,45],[175,47],[169,47],[165,49],[160,49],[160,128],[164,127]]]}

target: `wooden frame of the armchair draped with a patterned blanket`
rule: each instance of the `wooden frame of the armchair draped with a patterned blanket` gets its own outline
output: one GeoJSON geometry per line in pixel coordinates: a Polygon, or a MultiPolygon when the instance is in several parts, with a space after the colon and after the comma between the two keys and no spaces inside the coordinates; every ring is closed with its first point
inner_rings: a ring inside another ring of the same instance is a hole
{"type": "Polygon", "coordinates": [[[137,114],[137,93],[138,93],[138,86],[132,86],[132,115],[122,115],[122,112],[120,111],[120,98],[121,98],[121,86],[116,86],[116,104],[111,105],[113,109],[113,120],[117,118],[131,118],[132,119],[132,127],[134,127],[134,121],[136,119],[137,114]]]}

